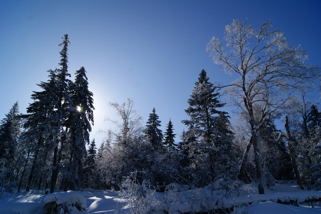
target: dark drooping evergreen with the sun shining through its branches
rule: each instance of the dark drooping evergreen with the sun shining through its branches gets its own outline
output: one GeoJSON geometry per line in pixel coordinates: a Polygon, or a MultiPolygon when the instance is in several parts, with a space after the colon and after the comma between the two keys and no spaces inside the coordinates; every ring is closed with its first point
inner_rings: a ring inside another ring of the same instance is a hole
{"type": "Polygon", "coordinates": [[[93,93],[88,89],[88,78],[84,67],[76,71],[75,82],[70,85],[72,105],[65,122],[68,133],[67,140],[70,151],[68,152],[68,170],[64,176],[65,190],[80,186],[82,160],[86,156],[86,144],[89,144],[91,124],[94,124],[94,99],[93,93]]]}

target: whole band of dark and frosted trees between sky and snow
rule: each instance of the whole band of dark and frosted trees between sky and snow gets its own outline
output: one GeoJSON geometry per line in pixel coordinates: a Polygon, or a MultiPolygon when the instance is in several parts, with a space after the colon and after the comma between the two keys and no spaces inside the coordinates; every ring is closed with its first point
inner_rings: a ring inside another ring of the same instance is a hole
{"type": "Polygon", "coordinates": [[[99,148],[89,140],[90,80],[84,67],[70,79],[67,34],[59,45],[60,67],[32,92],[27,114],[16,102],[0,122],[2,192],[120,191],[129,182],[156,192],[235,190],[255,183],[262,195],[264,187],[291,180],[302,190],[321,190],[321,112],[311,96],[320,90],[321,68],[305,63],[307,50],[290,46],[269,21],[255,29],[234,20],[223,40],[209,41],[214,63],[236,78],[214,84],[200,68],[180,136],[171,120],[163,133],[155,108],[144,123],[128,98],[110,102],[118,129],[108,130],[99,148]],[[226,105],[234,106],[234,118],[222,110],[226,105]]]}

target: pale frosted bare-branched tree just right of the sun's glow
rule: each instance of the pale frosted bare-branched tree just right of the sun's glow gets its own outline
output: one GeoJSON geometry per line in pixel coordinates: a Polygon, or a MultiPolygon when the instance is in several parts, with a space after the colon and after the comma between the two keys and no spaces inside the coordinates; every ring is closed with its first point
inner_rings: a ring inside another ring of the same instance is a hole
{"type": "Polygon", "coordinates": [[[100,152],[97,167],[99,176],[107,188],[119,189],[124,176],[135,170],[140,172],[149,164],[147,146],[143,137],[142,117],[133,109],[133,101],[119,104],[109,103],[120,120],[108,121],[116,125],[116,130],[109,130],[108,138],[100,152]]]}

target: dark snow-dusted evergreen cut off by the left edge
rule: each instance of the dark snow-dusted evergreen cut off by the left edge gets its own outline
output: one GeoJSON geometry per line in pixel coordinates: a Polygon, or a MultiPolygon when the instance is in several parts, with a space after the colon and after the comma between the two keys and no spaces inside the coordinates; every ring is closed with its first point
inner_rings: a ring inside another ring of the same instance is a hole
{"type": "Polygon", "coordinates": [[[13,181],[15,151],[20,135],[19,105],[12,105],[6,118],[0,121],[0,185],[13,181]]]}

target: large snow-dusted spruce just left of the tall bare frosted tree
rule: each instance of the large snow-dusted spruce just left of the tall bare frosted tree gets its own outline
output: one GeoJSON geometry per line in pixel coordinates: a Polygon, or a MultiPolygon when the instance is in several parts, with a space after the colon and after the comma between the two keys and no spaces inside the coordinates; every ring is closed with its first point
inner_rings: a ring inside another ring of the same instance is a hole
{"type": "Polygon", "coordinates": [[[194,176],[199,179],[199,185],[219,179],[235,179],[233,132],[227,113],[218,110],[224,106],[218,96],[206,71],[202,70],[188,100],[189,108],[185,110],[190,120],[182,121],[189,128],[187,132],[196,138],[190,156],[193,156],[194,176]]]}

